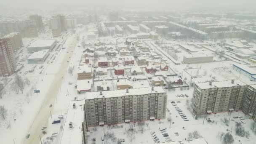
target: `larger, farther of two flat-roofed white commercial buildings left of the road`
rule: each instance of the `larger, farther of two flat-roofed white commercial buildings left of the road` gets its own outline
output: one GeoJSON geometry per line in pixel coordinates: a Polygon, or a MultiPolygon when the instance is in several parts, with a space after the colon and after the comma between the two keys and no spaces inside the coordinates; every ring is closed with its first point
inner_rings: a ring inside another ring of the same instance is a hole
{"type": "Polygon", "coordinates": [[[27,46],[27,51],[29,53],[49,49],[51,50],[56,45],[56,40],[54,39],[47,39],[47,40],[36,40],[35,42],[31,43],[27,46]]]}

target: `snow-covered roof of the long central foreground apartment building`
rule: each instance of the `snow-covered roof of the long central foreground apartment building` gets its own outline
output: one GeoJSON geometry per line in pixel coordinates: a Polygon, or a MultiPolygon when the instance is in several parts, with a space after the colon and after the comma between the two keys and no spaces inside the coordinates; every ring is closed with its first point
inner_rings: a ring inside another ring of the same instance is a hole
{"type": "Polygon", "coordinates": [[[128,89],[128,93],[126,90],[115,90],[115,91],[102,91],[102,95],[100,92],[91,92],[85,93],[85,100],[88,99],[96,99],[96,98],[111,98],[111,97],[120,97],[120,96],[136,96],[136,95],[144,95],[149,93],[165,93],[162,87],[154,87],[152,91],[151,87],[148,88],[131,88],[128,89]]]}

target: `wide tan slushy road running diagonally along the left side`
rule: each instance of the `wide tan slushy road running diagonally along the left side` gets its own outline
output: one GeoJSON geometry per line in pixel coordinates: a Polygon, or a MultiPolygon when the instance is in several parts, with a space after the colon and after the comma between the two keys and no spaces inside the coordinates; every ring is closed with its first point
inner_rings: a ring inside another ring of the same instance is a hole
{"type": "Polygon", "coordinates": [[[59,92],[62,77],[67,74],[67,69],[69,66],[69,63],[67,60],[69,57],[73,56],[73,51],[75,49],[75,46],[77,45],[77,40],[74,37],[73,42],[71,43],[70,47],[67,49],[68,53],[65,53],[64,58],[61,61],[61,67],[56,70],[56,73],[54,75],[54,80],[51,83],[51,86],[46,93],[45,100],[43,101],[43,104],[40,108],[40,111],[37,113],[36,117],[34,118],[34,121],[32,125],[29,128],[29,131],[27,133],[30,133],[29,139],[24,139],[23,144],[39,144],[40,143],[40,135],[42,135],[41,128],[48,123],[48,117],[51,116],[50,112],[53,111],[53,106],[50,108],[49,105],[55,104],[56,96],[59,92]]]}

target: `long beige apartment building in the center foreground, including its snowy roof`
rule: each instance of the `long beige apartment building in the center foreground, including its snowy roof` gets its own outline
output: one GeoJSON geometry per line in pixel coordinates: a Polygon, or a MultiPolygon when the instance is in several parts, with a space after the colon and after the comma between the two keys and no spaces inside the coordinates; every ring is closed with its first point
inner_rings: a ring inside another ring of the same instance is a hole
{"type": "Polygon", "coordinates": [[[85,93],[88,126],[164,119],[167,94],[162,87],[85,93]]]}

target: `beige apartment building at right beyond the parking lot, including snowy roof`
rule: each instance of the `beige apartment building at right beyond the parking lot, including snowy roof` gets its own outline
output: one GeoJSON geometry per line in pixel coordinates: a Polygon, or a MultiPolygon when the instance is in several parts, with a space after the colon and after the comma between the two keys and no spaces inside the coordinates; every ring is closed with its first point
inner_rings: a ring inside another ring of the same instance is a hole
{"type": "Polygon", "coordinates": [[[192,98],[195,115],[204,115],[242,108],[247,85],[240,80],[196,83],[192,98]]]}

